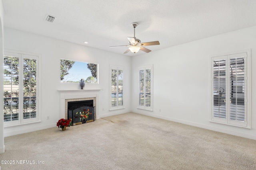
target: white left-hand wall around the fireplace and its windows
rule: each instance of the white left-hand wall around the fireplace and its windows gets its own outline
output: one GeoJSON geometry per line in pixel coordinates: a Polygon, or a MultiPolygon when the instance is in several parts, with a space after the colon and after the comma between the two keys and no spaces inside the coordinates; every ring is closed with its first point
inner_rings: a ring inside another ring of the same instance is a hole
{"type": "MultiPolygon", "coordinates": [[[[4,27],[4,49],[41,55],[42,122],[30,125],[5,127],[4,136],[56,127],[60,117],[59,89],[77,89],[78,84],[60,83],[60,59],[71,59],[99,64],[99,84],[86,84],[85,89],[102,88],[99,92],[97,118],[130,111],[130,64],[131,58],[83,45],[60,41],[4,27]],[[124,67],[124,109],[109,111],[109,65],[124,67]],[[104,110],[104,111],[103,111],[104,110]],[[46,117],[50,115],[50,119],[46,117]]],[[[57,128],[57,127],[56,127],[57,128]]]]}

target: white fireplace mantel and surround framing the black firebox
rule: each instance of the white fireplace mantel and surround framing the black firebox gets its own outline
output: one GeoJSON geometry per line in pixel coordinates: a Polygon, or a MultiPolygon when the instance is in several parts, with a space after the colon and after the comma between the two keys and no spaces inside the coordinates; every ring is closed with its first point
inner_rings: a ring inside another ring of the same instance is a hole
{"type": "Polygon", "coordinates": [[[97,119],[99,91],[102,89],[58,90],[60,92],[60,117],[68,118],[68,102],[93,100],[95,119],[97,119]]]}

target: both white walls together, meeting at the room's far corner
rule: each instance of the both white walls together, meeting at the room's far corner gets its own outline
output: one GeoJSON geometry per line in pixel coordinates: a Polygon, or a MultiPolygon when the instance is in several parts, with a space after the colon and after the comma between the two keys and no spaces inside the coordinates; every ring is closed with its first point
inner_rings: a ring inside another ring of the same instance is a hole
{"type": "MultiPolygon", "coordinates": [[[[255,27],[249,27],[222,35],[201,39],[191,43],[170,47],[148,54],[128,57],[107,51],[85,47],[4,28],[4,48],[42,55],[42,122],[4,128],[4,135],[14,135],[55,127],[60,118],[60,96],[58,89],[76,89],[77,85],[60,84],[60,59],[72,59],[99,64],[98,85],[86,84],[86,88],[102,88],[99,99],[99,117],[126,113],[130,110],[153,117],[177,121],[242,137],[256,139],[256,84],[255,27]],[[251,49],[251,127],[232,127],[209,122],[209,56],[251,49]],[[109,65],[125,67],[125,109],[108,111],[109,65]],[[154,105],[153,111],[137,109],[138,66],[153,64],[154,105]],[[104,109],[104,111],[103,111],[104,109]],[[161,111],[160,111],[161,109],[161,111]],[[50,120],[46,116],[50,115],[50,120]]],[[[160,42],[161,43],[161,42],[160,42]]],[[[0,129],[1,130],[1,129],[0,129]]]]}

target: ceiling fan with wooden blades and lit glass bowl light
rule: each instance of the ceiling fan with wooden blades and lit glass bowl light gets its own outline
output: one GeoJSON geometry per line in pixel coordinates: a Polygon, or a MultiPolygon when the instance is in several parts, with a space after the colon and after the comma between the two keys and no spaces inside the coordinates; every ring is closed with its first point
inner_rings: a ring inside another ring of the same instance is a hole
{"type": "MultiPolygon", "coordinates": [[[[132,27],[134,28],[134,37],[127,37],[129,40],[129,45],[120,45],[120,46],[112,46],[112,47],[129,47],[124,54],[131,51],[132,53],[137,53],[139,50],[144,51],[146,53],[149,53],[151,50],[146,49],[144,46],[148,45],[160,45],[159,41],[152,41],[152,42],[146,42],[146,43],[140,43],[140,39],[137,39],[135,37],[135,28],[138,26],[138,23],[134,22],[132,23],[132,27]]],[[[110,47],[110,48],[112,48],[110,47]]]]}

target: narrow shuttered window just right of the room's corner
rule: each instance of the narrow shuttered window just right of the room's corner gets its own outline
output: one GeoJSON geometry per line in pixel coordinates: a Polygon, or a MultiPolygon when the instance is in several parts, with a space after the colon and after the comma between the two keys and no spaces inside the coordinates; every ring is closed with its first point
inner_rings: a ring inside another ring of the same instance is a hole
{"type": "Polygon", "coordinates": [[[139,67],[138,108],[153,110],[153,65],[139,67]]]}

